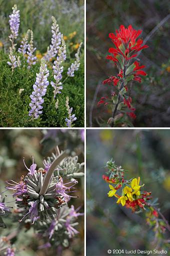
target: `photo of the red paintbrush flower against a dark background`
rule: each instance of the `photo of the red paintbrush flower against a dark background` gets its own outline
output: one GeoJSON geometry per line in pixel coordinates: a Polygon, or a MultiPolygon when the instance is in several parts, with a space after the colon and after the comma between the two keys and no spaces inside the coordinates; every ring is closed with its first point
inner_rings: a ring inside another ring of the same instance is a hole
{"type": "Polygon", "coordinates": [[[169,1],[86,1],[87,127],[169,127],[169,1]]]}

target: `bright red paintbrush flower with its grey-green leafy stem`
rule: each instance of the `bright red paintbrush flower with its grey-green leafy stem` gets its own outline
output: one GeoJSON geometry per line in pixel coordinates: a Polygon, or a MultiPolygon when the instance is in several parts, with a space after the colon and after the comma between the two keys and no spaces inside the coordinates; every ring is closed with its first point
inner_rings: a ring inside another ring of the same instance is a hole
{"type": "Polygon", "coordinates": [[[126,95],[126,92],[128,90],[127,83],[129,81],[141,82],[140,76],[146,75],[146,73],[141,70],[145,66],[139,66],[139,62],[133,60],[137,57],[138,52],[148,47],[147,45],[142,45],[142,39],[137,39],[141,32],[141,30],[134,30],[131,25],[129,25],[127,29],[121,25],[119,30],[116,30],[115,35],[113,33],[109,34],[109,38],[115,48],[109,48],[108,52],[111,55],[107,55],[106,59],[114,62],[118,68],[118,74],[117,76],[110,76],[103,81],[103,84],[112,85],[113,88],[116,87],[118,93],[116,93],[115,90],[110,98],[102,97],[98,105],[111,105],[112,117],[108,120],[110,126],[114,126],[115,124],[117,111],[121,113],[119,117],[122,117],[124,113],[132,118],[136,117],[134,114],[135,108],[131,106],[132,99],[126,95]]]}

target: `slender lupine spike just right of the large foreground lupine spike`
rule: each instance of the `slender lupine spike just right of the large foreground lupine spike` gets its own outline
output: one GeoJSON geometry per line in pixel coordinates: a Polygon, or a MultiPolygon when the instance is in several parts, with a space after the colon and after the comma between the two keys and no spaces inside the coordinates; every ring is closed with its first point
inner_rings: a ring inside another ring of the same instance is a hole
{"type": "Polygon", "coordinates": [[[50,84],[54,88],[54,98],[57,93],[61,93],[60,90],[62,90],[62,82],[60,81],[62,79],[62,72],[63,72],[63,66],[62,62],[66,59],[66,46],[65,42],[63,40],[63,35],[61,35],[61,46],[58,50],[58,55],[56,57],[56,60],[54,61],[54,65],[52,66],[53,69],[53,77],[55,79],[55,82],[51,81],[50,84]]]}

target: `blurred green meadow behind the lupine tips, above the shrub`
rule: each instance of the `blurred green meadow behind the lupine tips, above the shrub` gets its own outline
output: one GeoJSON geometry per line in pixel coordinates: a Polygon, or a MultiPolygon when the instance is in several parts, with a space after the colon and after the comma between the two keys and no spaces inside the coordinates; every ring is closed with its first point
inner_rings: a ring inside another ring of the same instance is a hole
{"type": "Polygon", "coordinates": [[[20,10],[19,37],[31,29],[34,45],[41,54],[46,52],[46,48],[50,44],[51,16],[55,17],[59,31],[66,37],[67,46],[73,47],[76,43],[83,42],[83,0],[0,0],[0,41],[5,50],[8,51],[9,48],[8,21],[14,4],[20,10]],[[72,34],[73,32],[75,33],[72,34]]]}

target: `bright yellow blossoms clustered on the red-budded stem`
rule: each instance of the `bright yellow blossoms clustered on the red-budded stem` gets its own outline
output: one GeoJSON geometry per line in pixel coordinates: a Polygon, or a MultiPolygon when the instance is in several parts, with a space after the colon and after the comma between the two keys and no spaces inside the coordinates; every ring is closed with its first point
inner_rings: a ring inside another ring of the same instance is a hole
{"type": "Polygon", "coordinates": [[[140,182],[140,177],[138,177],[138,179],[134,178],[132,179],[131,181],[131,184],[130,184],[130,187],[128,186],[125,186],[122,190],[122,196],[118,196],[116,194],[116,189],[109,184],[109,188],[111,189],[109,192],[108,192],[108,196],[111,197],[111,196],[115,196],[118,198],[117,202],[116,203],[121,203],[122,206],[125,205],[125,201],[128,199],[130,202],[133,201],[133,195],[136,195],[136,196],[139,196],[140,195],[140,187],[143,187],[144,184],[142,186],[139,185],[139,182],[140,182]]]}

